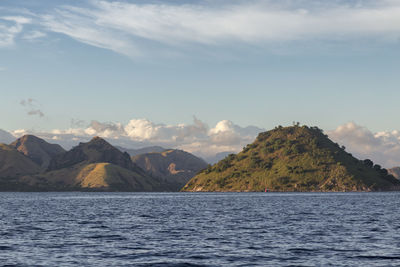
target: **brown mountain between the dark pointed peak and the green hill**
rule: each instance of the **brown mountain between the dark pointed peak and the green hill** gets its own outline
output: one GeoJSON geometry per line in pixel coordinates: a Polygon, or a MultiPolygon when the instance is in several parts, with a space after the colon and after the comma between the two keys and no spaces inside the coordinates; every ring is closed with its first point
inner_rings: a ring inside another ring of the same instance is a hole
{"type": "Polygon", "coordinates": [[[207,163],[182,150],[170,149],[161,153],[146,153],[132,157],[132,161],[148,172],[170,184],[173,191],[179,191],[207,163]]]}

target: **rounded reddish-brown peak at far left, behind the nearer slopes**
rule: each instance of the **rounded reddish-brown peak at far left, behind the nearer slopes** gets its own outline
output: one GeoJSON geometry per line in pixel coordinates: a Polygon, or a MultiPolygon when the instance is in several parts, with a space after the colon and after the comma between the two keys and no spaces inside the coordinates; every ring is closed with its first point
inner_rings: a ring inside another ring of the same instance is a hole
{"type": "Polygon", "coordinates": [[[30,158],[42,169],[47,169],[53,157],[65,152],[60,145],[49,144],[34,135],[24,135],[11,143],[10,146],[30,158]]]}

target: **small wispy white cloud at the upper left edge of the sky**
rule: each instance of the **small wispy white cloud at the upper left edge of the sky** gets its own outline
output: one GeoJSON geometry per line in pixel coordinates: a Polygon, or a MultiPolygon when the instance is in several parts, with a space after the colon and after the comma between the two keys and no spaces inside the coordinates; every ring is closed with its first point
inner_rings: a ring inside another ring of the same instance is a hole
{"type": "Polygon", "coordinates": [[[15,37],[22,32],[23,25],[31,22],[31,19],[21,16],[0,17],[0,47],[13,45],[15,37]]]}

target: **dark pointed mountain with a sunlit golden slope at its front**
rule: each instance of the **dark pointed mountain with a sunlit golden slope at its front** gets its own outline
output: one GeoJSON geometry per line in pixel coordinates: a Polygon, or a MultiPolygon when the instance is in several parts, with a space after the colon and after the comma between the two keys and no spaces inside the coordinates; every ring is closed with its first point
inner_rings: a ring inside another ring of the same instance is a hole
{"type": "Polygon", "coordinates": [[[169,190],[100,137],[56,155],[47,172],[24,176],[22,181],[38,190],[169,190]]]}

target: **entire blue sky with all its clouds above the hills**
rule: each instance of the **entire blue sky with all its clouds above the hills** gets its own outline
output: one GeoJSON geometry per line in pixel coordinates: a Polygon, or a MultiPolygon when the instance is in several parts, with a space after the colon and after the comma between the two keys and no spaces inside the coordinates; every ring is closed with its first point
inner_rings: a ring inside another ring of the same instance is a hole
{"type": "Polygon", "coordinates": [[[0,129],[65,147],[210,157],[299,121],[392,167],[399,72],[399,0],[0,0],[0,129]]]}

